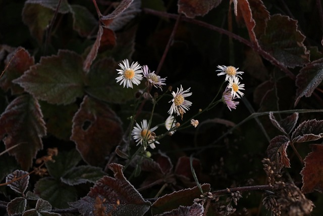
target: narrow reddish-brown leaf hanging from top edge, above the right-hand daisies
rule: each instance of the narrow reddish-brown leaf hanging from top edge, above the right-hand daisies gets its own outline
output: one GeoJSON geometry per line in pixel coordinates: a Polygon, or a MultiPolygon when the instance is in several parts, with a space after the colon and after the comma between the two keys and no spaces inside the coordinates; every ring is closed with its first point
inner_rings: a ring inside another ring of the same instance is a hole
{"type": "Polygon", "coordinates": [[[256,22],[254,21],[254,19],[252,17],[250,5],[247,0],[239,0],[238,17],[239,16],[243,17],[243,20],[244,20],[244,23],[248,29],[249,37],[250,37],[252,44],[254,44],[255,46],[258,47],[259,46],[258,40],[257,40],[256,35],[253,30],[256,25],[256,22]]]}

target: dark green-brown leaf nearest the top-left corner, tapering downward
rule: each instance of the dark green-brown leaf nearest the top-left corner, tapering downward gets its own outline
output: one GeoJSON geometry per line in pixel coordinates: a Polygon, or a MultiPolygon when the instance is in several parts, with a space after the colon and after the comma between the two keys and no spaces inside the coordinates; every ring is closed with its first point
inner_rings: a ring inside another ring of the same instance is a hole
{"type": "Polygon", "coordinates": [[[22,11],[22,20],[29,27],[33,37],[42,44],[44,31],[52,19],[54,12],[38,4],[25,4],[22,11]]]}

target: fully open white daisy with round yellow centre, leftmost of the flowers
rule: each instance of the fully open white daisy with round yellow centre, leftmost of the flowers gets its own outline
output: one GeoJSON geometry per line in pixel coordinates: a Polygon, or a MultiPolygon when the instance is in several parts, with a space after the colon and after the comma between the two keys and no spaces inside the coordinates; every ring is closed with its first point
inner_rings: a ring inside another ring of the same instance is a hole
{"type": "Polygon", "coordinates": [[[121,69],[117,69],[119,76],[116,78],[117,82],[120,82],[120,85],[123,84],[123,87],[125,88],[127,85],[127,88],[133,88],[132,83],[139,85],[140,80],[142,79],[142,73],[141,66],[138,64],[138,62],[133,62],[129,66],[129,60],[125,59],[122,61],[122,63],[119,64],[121,69]]]}

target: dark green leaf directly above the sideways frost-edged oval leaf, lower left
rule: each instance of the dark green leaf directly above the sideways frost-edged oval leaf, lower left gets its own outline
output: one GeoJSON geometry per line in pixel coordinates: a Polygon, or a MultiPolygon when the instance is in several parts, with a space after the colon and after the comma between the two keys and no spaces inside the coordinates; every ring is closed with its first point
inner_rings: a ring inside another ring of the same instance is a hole
{"type": "Polygon", "coordinates": [[[46,167],[49,175],[59,180],[80,162],[81,155],[72,149],[69,152],[59,152],[57,156],[53,156],[53,160],[47,161],[46,167]]]}

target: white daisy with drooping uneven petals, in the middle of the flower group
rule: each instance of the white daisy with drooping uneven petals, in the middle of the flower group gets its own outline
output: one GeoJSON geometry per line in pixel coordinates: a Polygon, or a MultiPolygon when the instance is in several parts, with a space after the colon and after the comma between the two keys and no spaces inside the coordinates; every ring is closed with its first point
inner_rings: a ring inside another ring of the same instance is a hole
{"type": "Polygon", "coordinates": [[[192,95],[192,93],[188,93],[191,88],[188,88],[187,90],[183,91],[183,87],[181,85],[181,88],[177,88],[177,92],[172,92],[173,100],[170,102],[172,103],[172,106],[168,113],[172,115],[173,113],[177,113],[177,115],[181,115],[183,117],[183,114],[186,113],[186,110],[189,110],[189,107],[192,105],[192,102],[186,100],[186,97],[189,97],[192,95]]]}

